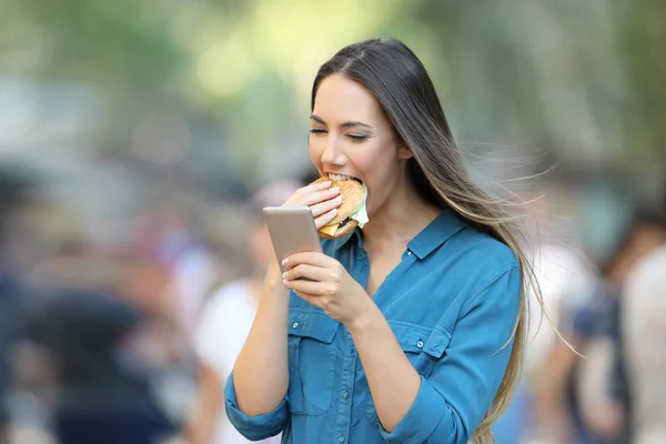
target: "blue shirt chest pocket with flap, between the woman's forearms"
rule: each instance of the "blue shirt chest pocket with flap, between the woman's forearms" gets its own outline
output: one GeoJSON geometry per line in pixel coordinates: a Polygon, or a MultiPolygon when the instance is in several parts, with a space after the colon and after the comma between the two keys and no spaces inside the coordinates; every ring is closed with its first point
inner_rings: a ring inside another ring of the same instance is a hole
{"type": "Polygon", "coordinates": [[[289,314],[289,404],[293,414],[317,416],[331,408],[340,322],[323,312],[289,314]]]}

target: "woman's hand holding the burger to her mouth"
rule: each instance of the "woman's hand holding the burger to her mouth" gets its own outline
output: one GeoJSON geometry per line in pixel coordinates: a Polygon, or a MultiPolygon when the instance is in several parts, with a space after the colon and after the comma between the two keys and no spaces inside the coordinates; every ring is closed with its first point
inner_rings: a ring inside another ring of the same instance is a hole
{"type": "Polygon", "coordinates": [[[342,204],[337,186],[331,188],[331,182],[311,183],[296,190],[282,206],[310,206],[316,229],[331,223],[342,204]]]}

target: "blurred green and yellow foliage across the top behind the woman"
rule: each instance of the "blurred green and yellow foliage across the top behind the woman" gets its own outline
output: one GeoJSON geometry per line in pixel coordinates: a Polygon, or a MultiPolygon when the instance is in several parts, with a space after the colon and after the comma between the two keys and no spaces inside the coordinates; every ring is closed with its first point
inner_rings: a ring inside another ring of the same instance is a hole
{"type": "Polygon", "coordinates": [[[519,143],[582,171],[666,165],[659,0],[0,0],[0,11],[2,74],[97,89],[100,144],[117,151],[168,110],[214,129],[240,176],[266,150],[281,153],[266,171],[291,164],[319,64],[382,36],[420,54],[463,143],[519,143]]]}

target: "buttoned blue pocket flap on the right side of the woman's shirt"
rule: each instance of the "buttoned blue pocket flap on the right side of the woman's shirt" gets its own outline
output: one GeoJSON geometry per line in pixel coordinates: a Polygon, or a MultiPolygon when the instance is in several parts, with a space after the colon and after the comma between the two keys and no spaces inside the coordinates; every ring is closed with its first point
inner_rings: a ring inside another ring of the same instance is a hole
{"type": "Polygon", "coordinates": [[[451,334],[443,329],[430,329],[402,321],[389,321],[389,325],[391,325],[400,346],[405,352],[425,352],[440,359],[451,341],[451,334]]]}

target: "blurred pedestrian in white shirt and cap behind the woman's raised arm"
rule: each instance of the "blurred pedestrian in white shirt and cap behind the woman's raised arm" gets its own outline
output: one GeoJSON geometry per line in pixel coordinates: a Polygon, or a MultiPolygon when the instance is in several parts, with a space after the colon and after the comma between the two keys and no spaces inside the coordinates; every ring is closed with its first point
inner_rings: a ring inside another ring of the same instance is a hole
{"type": "MultiPolygon", "coordinates": [[[[274,255],[268,230],[261,221],[261,210],[281,205],[300,185],[296,181],[273,182],[254,195],[248,209],[248,251],[252,270],[216,289],[203,305],[193,336],[201,364],[196,404],[189,424],[192,444],[249,442],[225,417],[223,386],[252,326],[266,266],[274,255]]],[[[278,443],[280,437],[264,442],[278,443]]]]}

